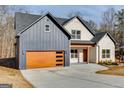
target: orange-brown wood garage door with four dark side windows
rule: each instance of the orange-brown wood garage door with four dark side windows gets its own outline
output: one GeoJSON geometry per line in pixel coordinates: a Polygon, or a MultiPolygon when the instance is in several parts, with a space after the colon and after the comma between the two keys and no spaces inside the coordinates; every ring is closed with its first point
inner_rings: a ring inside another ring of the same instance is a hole
{"type": "Polygon", "coordinates": [[[64,65],[64,51],[27,51],[26,68],[44,68],[64,65]]]}

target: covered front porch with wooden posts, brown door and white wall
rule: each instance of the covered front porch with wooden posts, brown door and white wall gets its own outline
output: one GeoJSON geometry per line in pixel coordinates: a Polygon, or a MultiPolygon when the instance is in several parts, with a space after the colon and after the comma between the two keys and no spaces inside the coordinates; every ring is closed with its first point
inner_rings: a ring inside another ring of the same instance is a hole
{"type": "Polygon", "coordinates": [[[90,63],[90,50],[94,44],[72,43],[70,51],[70,63],[90,63]]]}

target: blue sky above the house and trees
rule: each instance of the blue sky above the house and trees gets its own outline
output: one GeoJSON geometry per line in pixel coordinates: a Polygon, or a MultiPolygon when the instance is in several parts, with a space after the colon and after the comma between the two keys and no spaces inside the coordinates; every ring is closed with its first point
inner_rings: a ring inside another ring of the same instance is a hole
{"type": "Polygon", "coordinates": [[[82,14],[83,19],[93,20],[97,25],[102,20],[102,14],[109,8],[114,8],[116,11],[124,9],[124,5],[34,5],[28,6],[31,11],[37,13],[42,10],[44,12],[51,12],[54,16],[64,17],[71,12],[79,11],[82,14]]]}

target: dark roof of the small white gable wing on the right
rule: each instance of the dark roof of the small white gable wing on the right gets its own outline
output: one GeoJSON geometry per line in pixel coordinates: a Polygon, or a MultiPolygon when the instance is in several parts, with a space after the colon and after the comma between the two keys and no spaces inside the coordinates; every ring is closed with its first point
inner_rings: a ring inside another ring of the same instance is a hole
{"type": "Polygon", "coordinates": [[[107,32],[97,32],[95,34],[95,37],[91,41],[92,42],[95,42],[95,43],[98,43],[106,34],[114,42],[114,44],[117,44],[117,42],[115,41],[115,39],[109,33],[107,33],[107,32]]]}

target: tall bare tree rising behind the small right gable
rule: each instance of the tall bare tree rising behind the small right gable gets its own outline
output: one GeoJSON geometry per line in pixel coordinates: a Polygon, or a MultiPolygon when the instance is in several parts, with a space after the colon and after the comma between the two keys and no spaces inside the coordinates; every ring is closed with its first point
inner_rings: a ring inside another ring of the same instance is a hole
{"type": "Polygon", "coordinates": [[[117,38],[116,24],[117,16],[114,8],[110,8],[102,15],[102,22],[100,23],[99,31],[109,32],[114,38],[117,38]]]}

